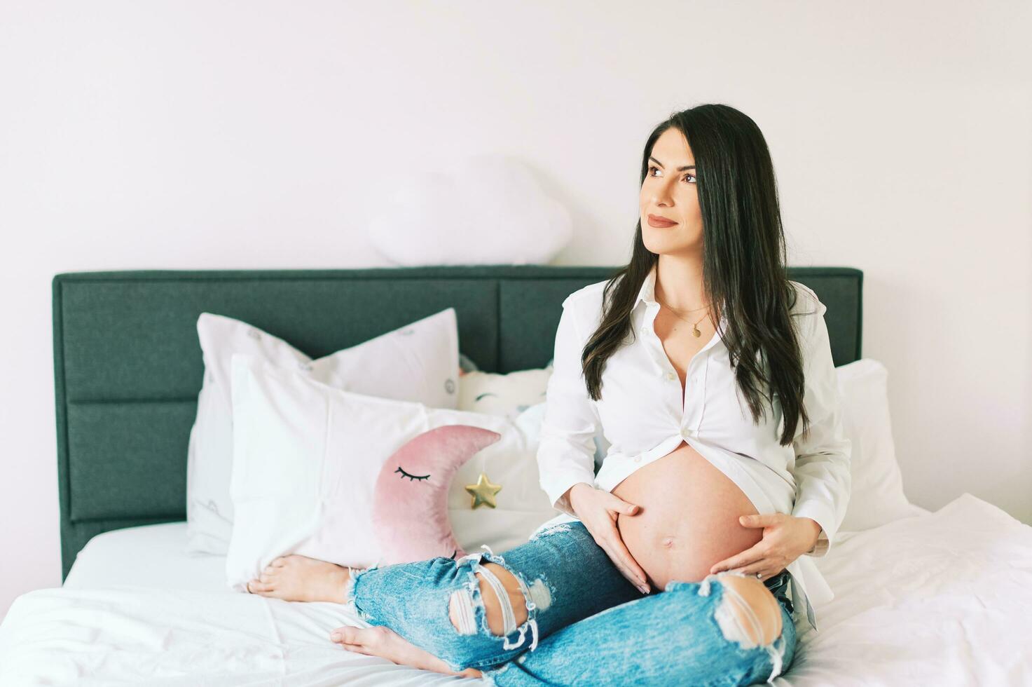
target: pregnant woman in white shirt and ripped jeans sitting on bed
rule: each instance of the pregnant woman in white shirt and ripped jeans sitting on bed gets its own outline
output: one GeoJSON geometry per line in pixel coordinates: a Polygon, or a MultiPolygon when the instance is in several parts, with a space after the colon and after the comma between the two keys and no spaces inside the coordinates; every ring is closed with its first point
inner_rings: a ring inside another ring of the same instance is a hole
{"type": "Polygon", "coordinates": [[[739,111],[656,127],[639,205],[630,263],[562,304],[538,452],[562,516],[503,556],[287,556],[249,591],[353,604],[373,627],[333,630],[345,649],[496,685],[784,673],[797,559],[828,551],[850,486],[825,306],[786,277],[770,155],[739,111]]]}

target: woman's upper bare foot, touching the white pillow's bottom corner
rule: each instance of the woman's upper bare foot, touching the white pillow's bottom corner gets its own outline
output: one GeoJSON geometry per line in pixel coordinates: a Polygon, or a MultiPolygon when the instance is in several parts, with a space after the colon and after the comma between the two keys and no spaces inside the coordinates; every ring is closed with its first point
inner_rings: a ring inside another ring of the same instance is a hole
{"type": "Polygon", "coordinates": [[[285,601],[333,601],[345,603],[344,586],[351,579],[348,568],[308,556],[282,556],[248,583],[252,594],[285,601]]]}

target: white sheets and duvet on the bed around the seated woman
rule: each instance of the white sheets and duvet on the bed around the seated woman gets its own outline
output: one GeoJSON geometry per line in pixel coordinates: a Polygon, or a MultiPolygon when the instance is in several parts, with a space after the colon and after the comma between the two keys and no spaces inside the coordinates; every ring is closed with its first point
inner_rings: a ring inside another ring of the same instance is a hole
{"type": "MultiPolygon", "coordinates": [[[[0,685],[483,684],[338,649],[329,629],[365,623],[336,604],[229,591],[224,559],[179,553],[178,525],[101,535],[65,588],[17,599],[0,685]]],[[[1032,528],[996,506],[964,494],[840,533],[817,561],[835,598],[817,608],[819,632],[800,625],[775,684],[1032,684],[1032,528]]]]}

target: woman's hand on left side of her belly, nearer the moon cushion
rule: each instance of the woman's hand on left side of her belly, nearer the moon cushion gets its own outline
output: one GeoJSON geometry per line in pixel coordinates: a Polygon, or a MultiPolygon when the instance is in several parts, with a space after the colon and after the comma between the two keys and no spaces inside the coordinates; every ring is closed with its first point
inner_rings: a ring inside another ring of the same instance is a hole
{"type": "Polygon", "coordinates": [[[649,593],[645,571],[623,543],[623,537],[616,528],[617,516],[634,516],[641,508],[627,503],[611,492],[595,489],[587,482],[577,482],[570,488],[570,507],[594,537],[595,543],[616,565],[620,573],[637,587],[642,594],[649,593]]]}

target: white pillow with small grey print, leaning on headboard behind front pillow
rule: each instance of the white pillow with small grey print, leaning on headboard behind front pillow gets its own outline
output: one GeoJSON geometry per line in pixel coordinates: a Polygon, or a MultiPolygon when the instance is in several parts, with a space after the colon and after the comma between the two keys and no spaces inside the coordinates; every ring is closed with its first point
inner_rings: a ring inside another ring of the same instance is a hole
{"type": "Polygon", "coordinates": [[[233,527],[230,358],[247,353],[357,394],[455,408],[458,324],[448,308],[319,360],[247,322],[201,313],[204,381],[187,459],[187,551],[225,554],[233,527]]]}

